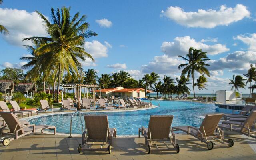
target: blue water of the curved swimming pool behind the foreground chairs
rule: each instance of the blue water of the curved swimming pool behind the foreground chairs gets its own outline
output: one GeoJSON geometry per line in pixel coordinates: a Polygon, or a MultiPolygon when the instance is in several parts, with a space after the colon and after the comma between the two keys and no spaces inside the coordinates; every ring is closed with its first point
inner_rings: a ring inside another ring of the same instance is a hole
{"type": "MultiPolygon", "coordinates": [[[[91,113],[108,115],[110,128],[117,128],[117,134],[138,134],[138,128],[148,126],[150,115],[174,115],[172,126],[191,125],[200,126],[202,119],[198,116],[218,112],[218,107],[214,104],[202,104],[185,101],[152,101],[153,105],[160,107],[138,110],[133,112],[107,112],[91,113]]],[[[51,116],[42,116],[30,120],[30,124],[48,124],[56,126],[57,132],[69,133],[70,118],[72,114],[56,114],[51,116]]],[[[84,120],[83,120],[84,122],[84,120]]],[[[81,123],[79,116],[74,116],[72,120],[72,133],[81,134],[81,123]]]]}

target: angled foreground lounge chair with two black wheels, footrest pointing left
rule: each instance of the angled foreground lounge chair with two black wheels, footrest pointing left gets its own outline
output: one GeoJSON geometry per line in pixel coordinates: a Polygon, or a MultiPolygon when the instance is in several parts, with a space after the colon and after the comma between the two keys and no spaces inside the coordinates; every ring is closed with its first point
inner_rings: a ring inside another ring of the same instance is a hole
{"type": "Polygon", "coordinates": [[[232,139],[225,140],[224,132],[219,129],[218,123],[222,118],[223,114],[207,114],[200,126],[200,128],[196,128],[193,126],[177,126],[172,127],[174,131],[183,131],[187,134],[190,134],[201,140],[207,144],[208,150],[211,150],[214,145],[216,146],[224,146],[228,145],[232,147],[234,142],[232,139]],[[214,132],[217,130],[218,132],[214,132]],[[219,142],[219,143],[216,143],[219,142]]]}

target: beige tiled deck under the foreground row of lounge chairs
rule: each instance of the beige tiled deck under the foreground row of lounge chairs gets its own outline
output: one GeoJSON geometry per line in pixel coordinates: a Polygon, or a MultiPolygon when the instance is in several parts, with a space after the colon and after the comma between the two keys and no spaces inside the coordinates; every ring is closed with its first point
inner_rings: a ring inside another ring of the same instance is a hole
{"type": "Polygon", "coordinates": [[[81,137],[52,134],[30,134],[11,141],[8,147],[0,145],[0,160],[255,160],[254,138],[225,132],[225,138],[234,140],[233,147],[208,150],[206,144],[186,134],[177,134],[180,153],[156,152],[147,154],[144,138],[114,138],[112,152],[78,154],[81,137]]]}

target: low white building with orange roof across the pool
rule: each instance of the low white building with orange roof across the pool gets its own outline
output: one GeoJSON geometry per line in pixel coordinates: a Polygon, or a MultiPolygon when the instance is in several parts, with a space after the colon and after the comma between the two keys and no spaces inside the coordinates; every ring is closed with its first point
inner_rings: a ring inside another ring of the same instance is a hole
{"type": "MultiPolygon", "coordinates": [[[[141,97],[145,98],[145,89],[144,88],[124,88],[124,87],[116,87],[116,88],[106,88],[102,90],[95,90],[97,95],[101,96],[118,96],[118,97],[141,97]]],[[[151,93],[152,91],[147,90],[147,93],[151,93]]]]}

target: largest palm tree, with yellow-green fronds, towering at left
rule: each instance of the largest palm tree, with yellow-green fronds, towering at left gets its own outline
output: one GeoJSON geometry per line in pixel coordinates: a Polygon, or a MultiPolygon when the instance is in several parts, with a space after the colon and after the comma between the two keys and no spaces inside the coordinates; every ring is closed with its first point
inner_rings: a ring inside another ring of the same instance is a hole
{"type": "Polygon", "coordinates": [[[23,40],[32,40],[44,44],[35,50],[36,55],[52,53],[52,59],[54,60],[52,68],[58,69],[58,101],[61,74],[66,71],[67,73],[76,73],[79,77],[82,77],[83,69],[79,59],[84,61],[85,57],[88,57],[94,61],[92,56],[84,51],[84,41],[91,36],[97,36],[97,34],[88,30],[89,24],[85,22],[85,15],[79,19],[79,12],[77,12],[72,18],[70,8],[62,7],[61,9],[57,8],[57,10],[51,8],[52,24],[43,14],[36,12],[42,18],[46,32],[50,37],[34,36],[23,40]]]}

